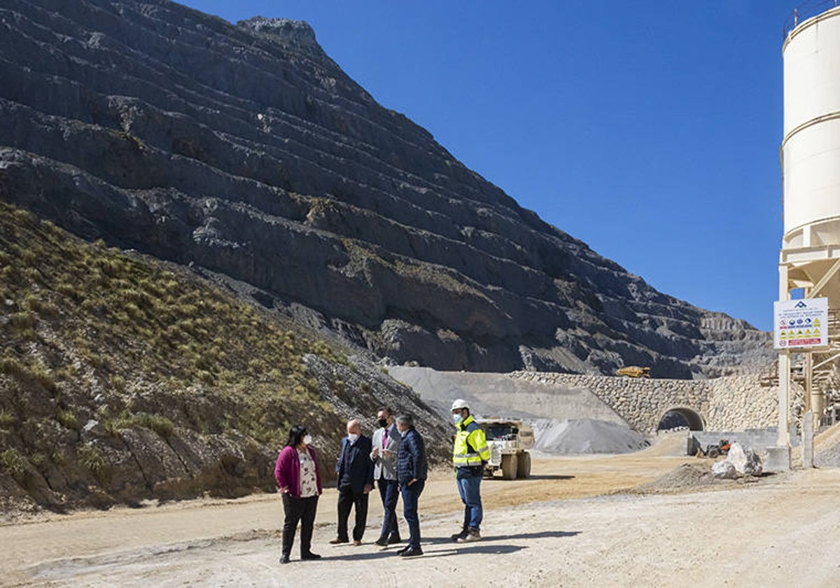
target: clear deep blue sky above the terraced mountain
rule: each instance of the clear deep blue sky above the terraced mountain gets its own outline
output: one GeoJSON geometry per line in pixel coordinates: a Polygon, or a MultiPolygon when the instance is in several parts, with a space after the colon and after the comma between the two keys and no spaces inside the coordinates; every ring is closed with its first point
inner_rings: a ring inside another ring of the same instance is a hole
{"type": "Polygon", "coordinates": [[[772,328],[785,20],[801,0],[186,0],[306,20],[523,207],[655,288],[772,328]]]}

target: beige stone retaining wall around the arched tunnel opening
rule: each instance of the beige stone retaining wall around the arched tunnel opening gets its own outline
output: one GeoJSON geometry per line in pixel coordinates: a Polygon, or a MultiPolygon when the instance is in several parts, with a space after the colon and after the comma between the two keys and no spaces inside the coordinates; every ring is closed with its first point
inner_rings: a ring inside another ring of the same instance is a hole
{"type": "Polygon", "coordinates": [[[761,386],[759,375],[715,380],[657,380],[608,375],[517,371],[512,378],[547,386],[585,388],[634,429],[654,432],[669,410],[693,412],[713,431],[773,427],[779,423],[775,386],[761,386]]]}

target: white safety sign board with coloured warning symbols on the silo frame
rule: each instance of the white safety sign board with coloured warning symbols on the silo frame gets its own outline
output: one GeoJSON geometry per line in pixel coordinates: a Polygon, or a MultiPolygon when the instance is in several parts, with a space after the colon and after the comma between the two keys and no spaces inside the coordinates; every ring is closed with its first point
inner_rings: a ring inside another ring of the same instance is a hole
{"type": "Polygon", "coordinates": [[[828,298],[773,303],[775,349],[810,349],[828,345],[828,298]]]}

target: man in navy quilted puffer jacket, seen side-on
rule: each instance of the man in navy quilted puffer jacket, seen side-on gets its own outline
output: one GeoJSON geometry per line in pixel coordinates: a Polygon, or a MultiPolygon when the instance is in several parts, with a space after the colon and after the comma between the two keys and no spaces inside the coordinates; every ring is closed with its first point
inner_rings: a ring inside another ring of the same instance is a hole
{"type": "Polygon", "coordinates": [[[400,449],[396,454],[396,481],[402,496],[402,516],[408,524],[408,545],[397,554],[402,557],[423,555],[420,549],[420,518],[417,516],[417,500],[426,485],[428,465],[423,437],[414,428],[414,418],[409,414],[396,417],[396,428],[402,435],[400,449]]]}

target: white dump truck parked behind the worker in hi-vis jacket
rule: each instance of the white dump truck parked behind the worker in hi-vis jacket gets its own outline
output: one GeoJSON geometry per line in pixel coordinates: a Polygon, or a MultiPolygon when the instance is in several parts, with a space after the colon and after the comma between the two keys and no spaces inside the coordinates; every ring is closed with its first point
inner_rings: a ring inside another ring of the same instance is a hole
{"type": "Polygon", "coordinates": [[[504,480],[527,478],[531,475],[533,429],[522,421],[507,418],[480,418],[475,423],[484,430],[490,461],[484,465],[484,475],[491,478],[501,471],[504,480]]]}

